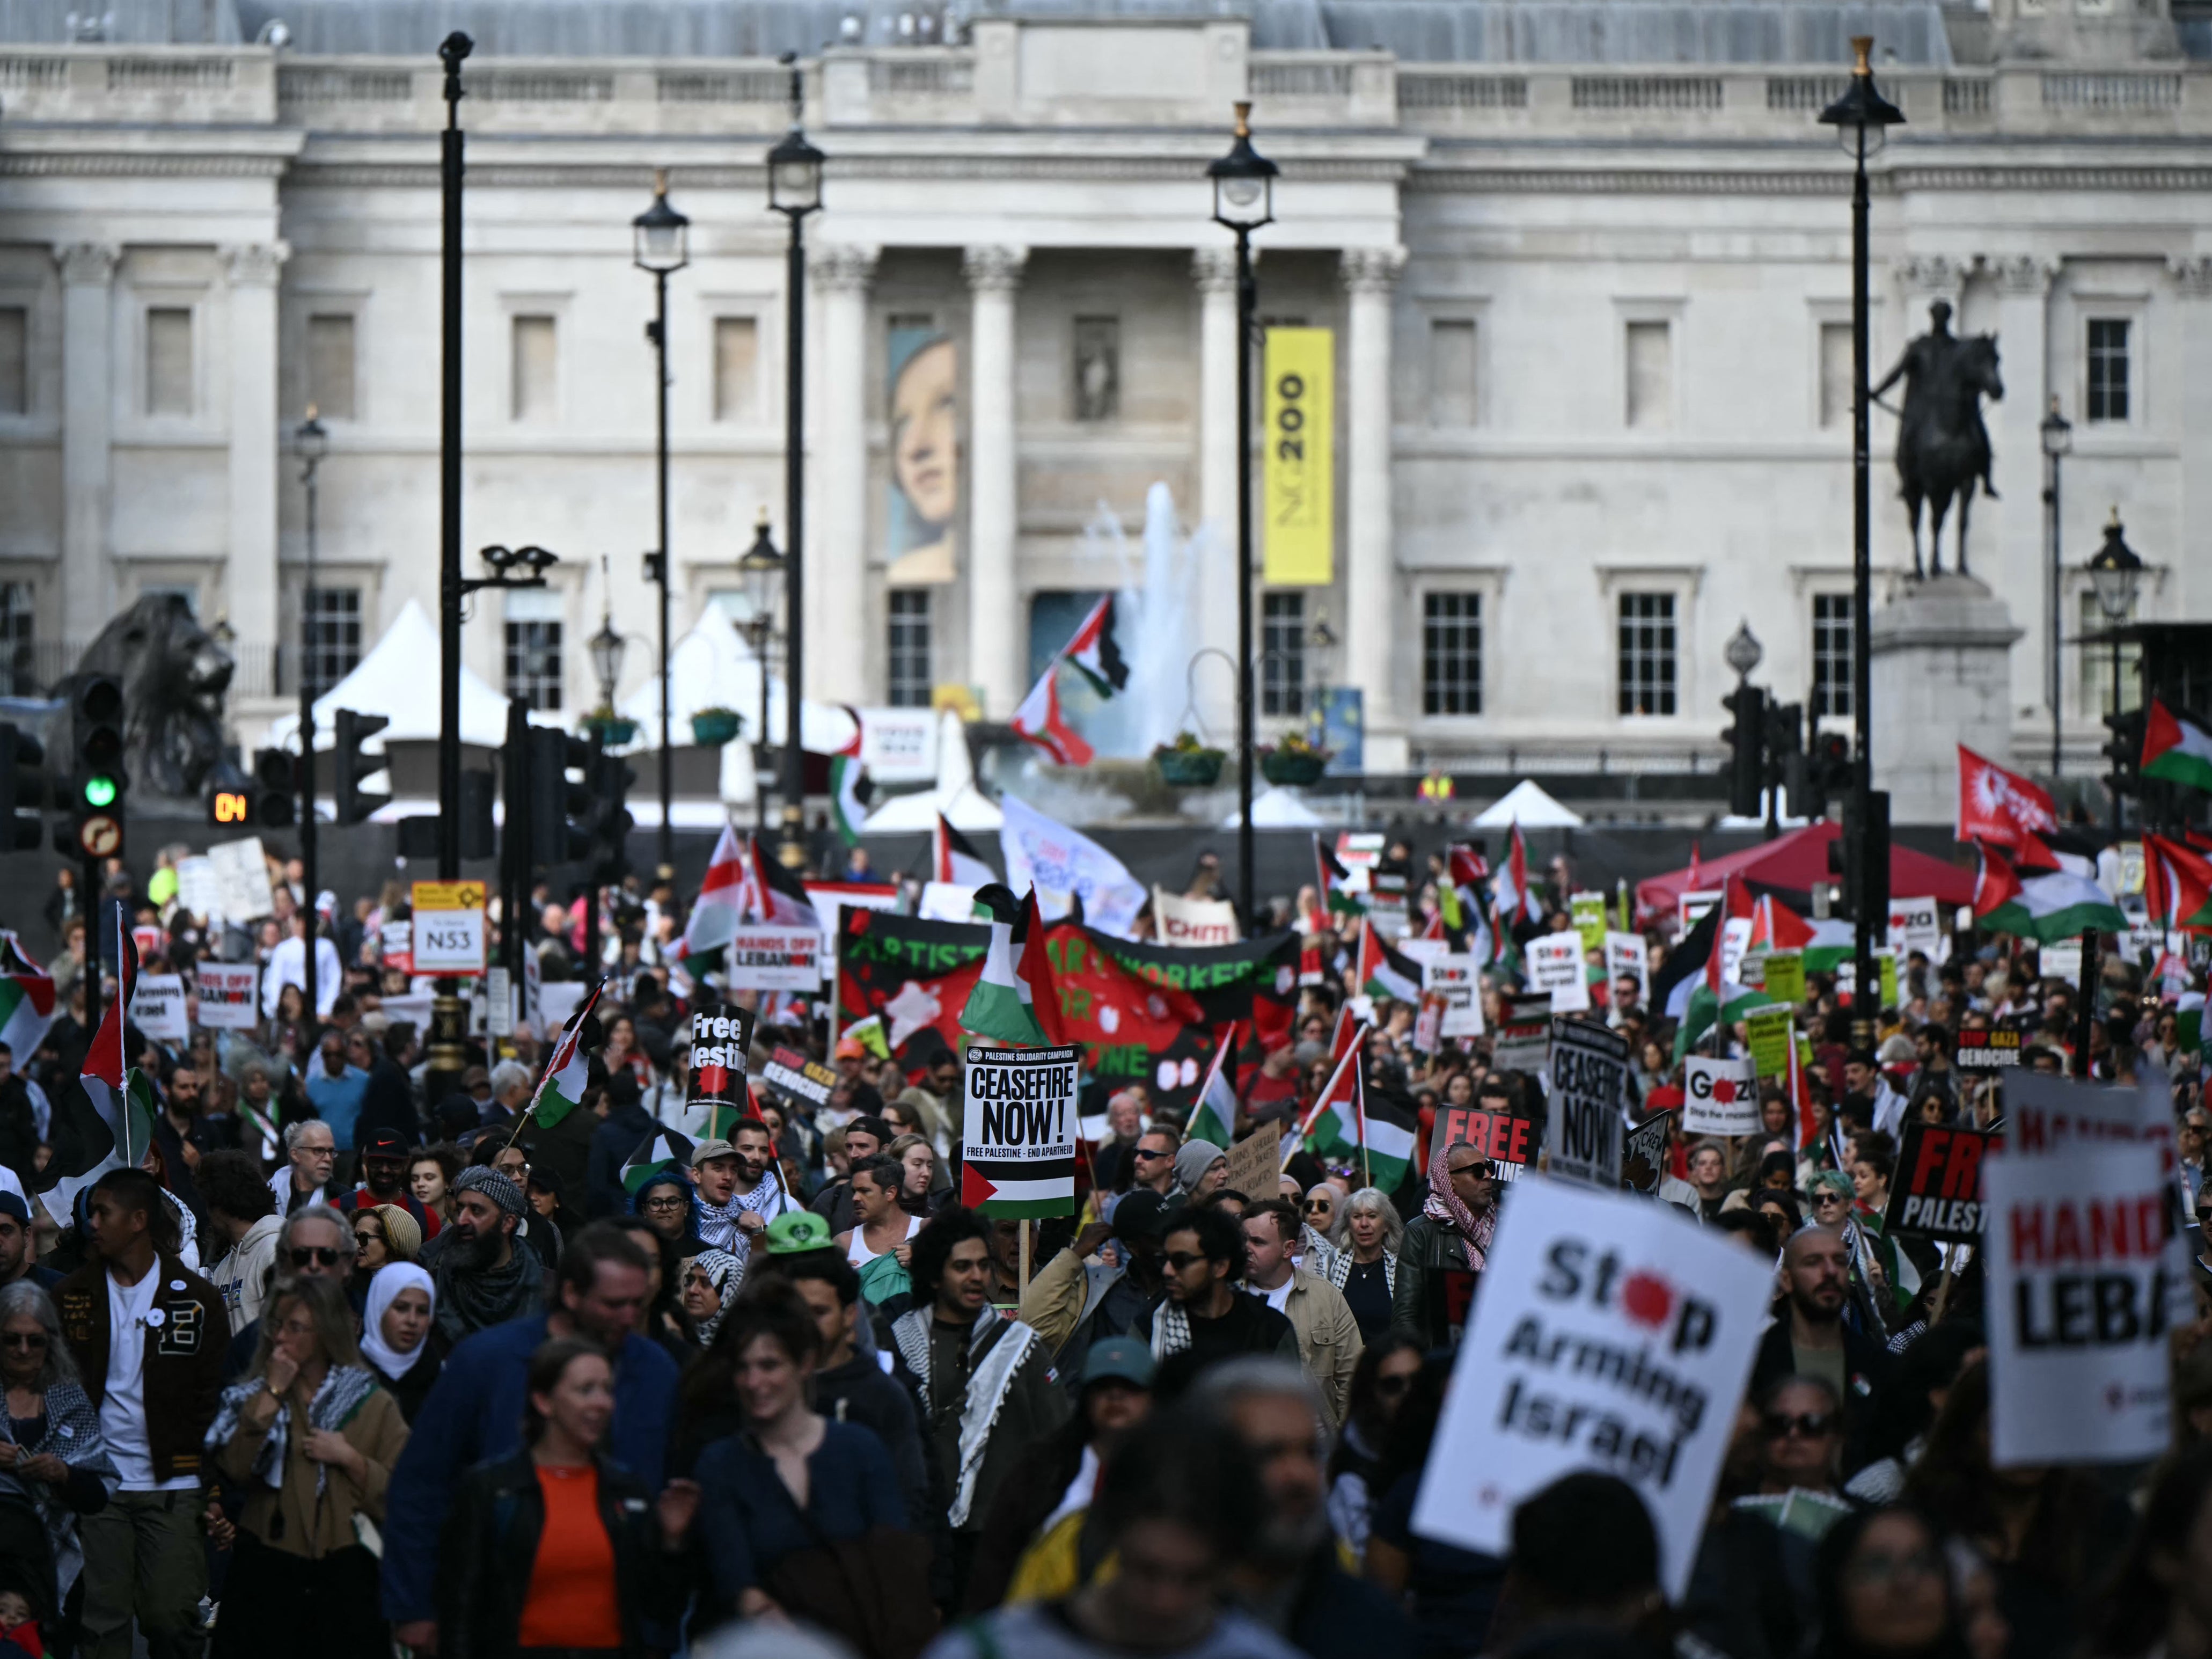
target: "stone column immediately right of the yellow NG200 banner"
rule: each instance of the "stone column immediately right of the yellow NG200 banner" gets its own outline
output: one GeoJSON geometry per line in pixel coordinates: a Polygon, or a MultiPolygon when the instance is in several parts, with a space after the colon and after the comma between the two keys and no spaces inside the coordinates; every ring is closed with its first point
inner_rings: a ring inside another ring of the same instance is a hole
{"type": "Polygon", "coordinates": [[[1409,765],[1396,695],[1398,551],[1391,540],[1389,336],[1405,248],[1347,248],[1345,383],[1345,679],[1365,692],[1369,772],[1409,765]]]}

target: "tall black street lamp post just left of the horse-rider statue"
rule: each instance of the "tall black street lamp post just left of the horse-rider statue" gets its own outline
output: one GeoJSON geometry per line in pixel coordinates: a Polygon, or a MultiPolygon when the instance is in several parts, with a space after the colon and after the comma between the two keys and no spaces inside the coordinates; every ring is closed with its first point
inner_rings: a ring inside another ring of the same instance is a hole
{"type": "MultiPolygon", "coordinates": [[[[1851,818],[1858,825],[1858,845],[1847,845],[1845,856],[1858,860],[1860,878],[1854,883],[1860,894],[1851,918],[1856,938],[1851,947],[1851,1024],[1863,1048],[1874,1046],[1874,1031],[1880,1020],[1880,989],[1874,978],[1876,929],[1889,931],[1889,916],[1876,916],[1876,905],[1867,900],[1869,885],[1889,891],[1889,827],[1882,814],[1880,834],[1874,825],[1874,659],[1867,637],[1874,633],[1874,458],[1869,442],[1869,341],[1867,341],[1867,157],[1882,148],[1891,126],[1905,119],[1905,111],[1874,88],[1874,66],[1869,53],[1874,35],[1851,38],[1851,84],[1843,97],[1820,111],[1820,124],[1834,126],[1851,153],[1851,726],[1858,745],[1851,768],[1851,818]],[[1871,845],[1869,845],[1871,843],[1871,845]],[[1880,883],[1867,883],[1865,872],[1880,872],[1880,883]]],[[[1887,805],[1887,803],[1885,803],[1887,805]]],[[[1887,905],[1880,907],[1887,911],[1887,905]]]]}

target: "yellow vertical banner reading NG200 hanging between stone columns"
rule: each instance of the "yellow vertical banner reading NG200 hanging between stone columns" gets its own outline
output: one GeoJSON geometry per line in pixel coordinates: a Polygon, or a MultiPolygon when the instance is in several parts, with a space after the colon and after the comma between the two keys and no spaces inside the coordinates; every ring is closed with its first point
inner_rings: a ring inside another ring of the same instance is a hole
{"type": "Polygon", "coordinates": [[[1267,586],[1321,588],[1336,553],[1336,332],[1272,327],[1261,462],[1267,586]]]}

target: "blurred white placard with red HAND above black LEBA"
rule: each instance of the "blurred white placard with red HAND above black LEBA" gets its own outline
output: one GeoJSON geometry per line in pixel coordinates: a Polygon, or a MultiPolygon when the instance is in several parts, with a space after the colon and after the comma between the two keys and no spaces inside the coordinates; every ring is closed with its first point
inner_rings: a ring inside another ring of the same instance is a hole
{"type": "Polygon", "coordinates": [[[2166,1181],[2152,1146],[1982,1164],[1997,1469],[2168,1451],[2166,1181]]]}

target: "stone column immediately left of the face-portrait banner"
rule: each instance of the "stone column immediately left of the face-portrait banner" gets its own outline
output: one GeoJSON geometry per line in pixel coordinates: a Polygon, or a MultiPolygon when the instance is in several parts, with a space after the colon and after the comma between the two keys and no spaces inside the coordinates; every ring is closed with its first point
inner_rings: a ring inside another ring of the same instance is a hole
{"type": "MultiPolygon", "coordinates": [[[[807,498],[805,695],[880,701],[880,611],[867,582],[867,285],[876,248],[818,248],[810,259],[821,296],[821,372],[812,378],[816,445],[807,498]],[[874,615],[863,633],[856,617],[874,615]],[[860,635],[858,639],[854,635],[860,635]]],[[[783,520],[790,524],[790,515],[783,520]]]]}

